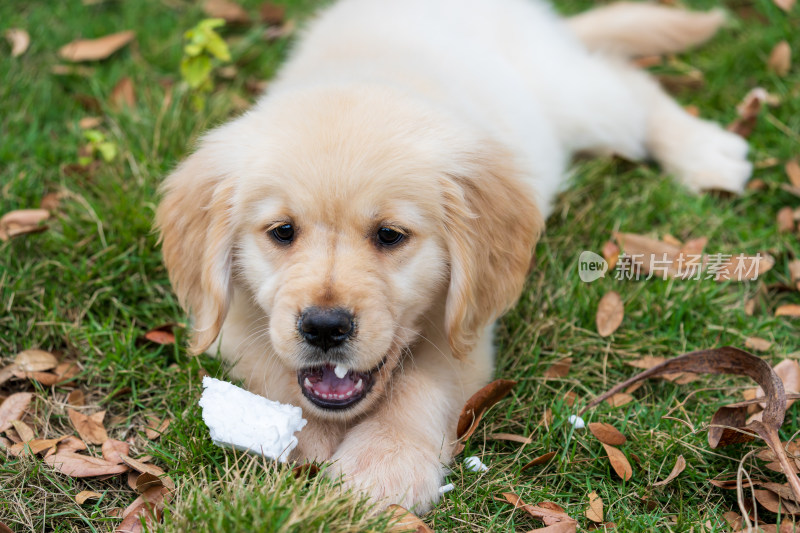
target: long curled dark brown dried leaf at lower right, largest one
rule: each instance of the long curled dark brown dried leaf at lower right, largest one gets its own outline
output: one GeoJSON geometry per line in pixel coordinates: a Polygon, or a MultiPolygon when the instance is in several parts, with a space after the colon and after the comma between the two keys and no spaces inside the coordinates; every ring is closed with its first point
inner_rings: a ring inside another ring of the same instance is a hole
{"type": "MultiPolygon", "coordinates": [[[[755,432],[764,439],[767,446],[776,453],[792,490],[800,497],[800,478],[795,474],[795,468],[789,463],[786,451],[783,449],[778,435],[778,430],[783,424],[786,412],[786,394],[783,390],[783,383],[766,361],[738,348],[725,346],[711,350],[699,350],[669,359],[663,364],[645,370],[601,394],[590,401],[580,414],[636,381],[676,371],[744,375],[752,378],[764,389],[767,404],[764,408],[762,419],[753,420],[741,429],[755,432]]],[[[712,426],[709,427],[709,444],[712,448],[715,447],[713,444],[714,438],[712,438],[712,431],[715,429],[719,428],[713,427],[712,419],[712,426]]]]}

